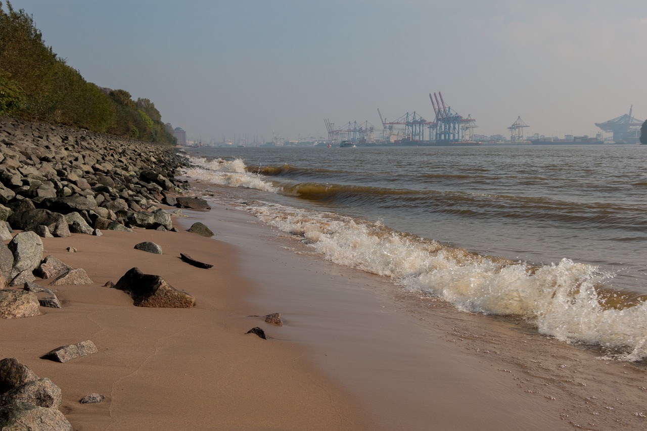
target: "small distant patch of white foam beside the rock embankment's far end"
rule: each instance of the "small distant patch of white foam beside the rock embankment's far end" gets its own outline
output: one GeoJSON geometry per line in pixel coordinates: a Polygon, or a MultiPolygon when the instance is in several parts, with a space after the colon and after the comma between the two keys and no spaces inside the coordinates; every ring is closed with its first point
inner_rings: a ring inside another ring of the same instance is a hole
{"type": "Polygon", "coordinates": [[[270,182],[263,181],[263,177],[245,170],[245,162],[236,160],[207,160],[203,157],[189,157],[193,164],[186,168],[182,174],[186,177],[221,184],[230,187],[245,187],[262,190],[263,192],[278,192],[270,182]]]}

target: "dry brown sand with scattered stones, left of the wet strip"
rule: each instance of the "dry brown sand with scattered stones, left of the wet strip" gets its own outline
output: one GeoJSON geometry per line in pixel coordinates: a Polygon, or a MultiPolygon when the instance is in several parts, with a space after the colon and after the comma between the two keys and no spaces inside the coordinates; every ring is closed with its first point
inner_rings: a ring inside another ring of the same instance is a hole
{"type": "Polygon", "coordinates": [[[258,313],[246,305],[250,283],[240,275],[234,247],[154,230],[43,243],[45,256],[85,269],[94,283],[56,287],[62,309],[41,307],[38,317],[1,321],[1,355],[60,386],[60,410],[75,430],[371,429],[302,346],[245,335],[269,325],[248,317],[258,313]],[[142,241],[159,244],[164,254],[133,249],[142,241]],[[70,246],[78,252],[67,252],[70,246]],[[192,267],[180,252],[215,266],[192,267]],[[195,296],[195,307],[135,307],[126,293],[103,287],[135,266],[195,296]],[[99,353],[65,364],[39,359],[83,340],[92,340],[99,353]],[[93,392],[105,401],[78,403],[93,392]]]}

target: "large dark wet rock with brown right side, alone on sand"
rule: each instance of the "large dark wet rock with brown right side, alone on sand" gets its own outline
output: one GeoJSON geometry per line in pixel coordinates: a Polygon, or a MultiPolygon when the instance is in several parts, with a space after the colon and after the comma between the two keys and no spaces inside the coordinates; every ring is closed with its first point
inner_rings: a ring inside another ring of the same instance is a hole
{"type": "Polygon", "coordinates": [[[162,277],[132,268],[119,279],[115,289],[127,292],[138,307],[190,308],[195,298],[175,289],[162,277]]]}

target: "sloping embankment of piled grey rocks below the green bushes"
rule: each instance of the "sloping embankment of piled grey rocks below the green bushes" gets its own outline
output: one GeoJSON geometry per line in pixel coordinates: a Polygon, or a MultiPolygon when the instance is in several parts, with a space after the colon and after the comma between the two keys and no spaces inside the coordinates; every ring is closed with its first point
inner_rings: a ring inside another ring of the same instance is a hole
{"type": "Polygon", "coordinates": [[[172,195],[187,188],[174,178],[182,164],[169,146],[0,118],[0,221],[8,223],[0,236],[170,230],[156,204],[177,204],[172,195]]]}

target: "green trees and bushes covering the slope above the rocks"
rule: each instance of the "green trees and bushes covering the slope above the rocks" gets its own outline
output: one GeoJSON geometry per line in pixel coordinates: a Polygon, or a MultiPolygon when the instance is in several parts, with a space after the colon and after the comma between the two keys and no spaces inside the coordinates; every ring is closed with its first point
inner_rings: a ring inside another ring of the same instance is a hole
{"type": "Polygon", "coordinates": [[[0,115],[175,144],[150,100],[102,89],[45,45],[25,10],[0,1],[0,115]]]}

